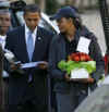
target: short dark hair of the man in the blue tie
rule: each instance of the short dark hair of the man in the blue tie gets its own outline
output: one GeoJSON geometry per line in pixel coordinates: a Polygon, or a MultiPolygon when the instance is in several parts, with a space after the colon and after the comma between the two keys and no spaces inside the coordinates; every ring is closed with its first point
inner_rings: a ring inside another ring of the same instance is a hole
{"type": "Polygon", "coordinates": [[[40,14],[40,9],[37,4],[27,4],[24,8],[24,14],[26,14],[27,12],[38,12],[40,14]]]}

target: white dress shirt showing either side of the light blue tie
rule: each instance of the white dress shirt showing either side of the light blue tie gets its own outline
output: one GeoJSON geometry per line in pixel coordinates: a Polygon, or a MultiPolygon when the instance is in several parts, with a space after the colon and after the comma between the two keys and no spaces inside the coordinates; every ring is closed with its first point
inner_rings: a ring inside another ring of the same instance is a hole
{"type": "MultiPolygon", "coordinates": [[[[25,40],[26,40],[26,45],[27,45],[27,39],[28,39],[29,32],[31,32],[29,28],[25,25],[25,40]]],[[[37,27],[32,33],[32,36],[33,36],[34,47],[35,47],[35,41],[36,41],[36,37],[37,37],[37,27]]]]}

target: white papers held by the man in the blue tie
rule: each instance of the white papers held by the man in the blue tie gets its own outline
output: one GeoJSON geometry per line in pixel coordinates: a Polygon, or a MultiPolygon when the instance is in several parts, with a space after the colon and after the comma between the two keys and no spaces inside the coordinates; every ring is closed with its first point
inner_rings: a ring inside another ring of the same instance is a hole
{"type": "Polygon", "coordinates": [[[44,64],[44,63],[45,63],[45,61],[24,63],[24,64],[21,65],[21,69],[36,67],[39,64],[44,64]]]}

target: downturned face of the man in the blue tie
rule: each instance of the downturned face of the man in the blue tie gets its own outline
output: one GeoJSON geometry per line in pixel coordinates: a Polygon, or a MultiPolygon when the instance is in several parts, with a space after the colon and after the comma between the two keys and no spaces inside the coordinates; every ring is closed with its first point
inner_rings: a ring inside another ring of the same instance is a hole
{"type": "Polygon", "coordinates": [[[24,20],[26,22],[27,27],[34,32],[36,26],[38,26],[40,14],[38,12],[26,12],[24,15],[24,20]]]}

